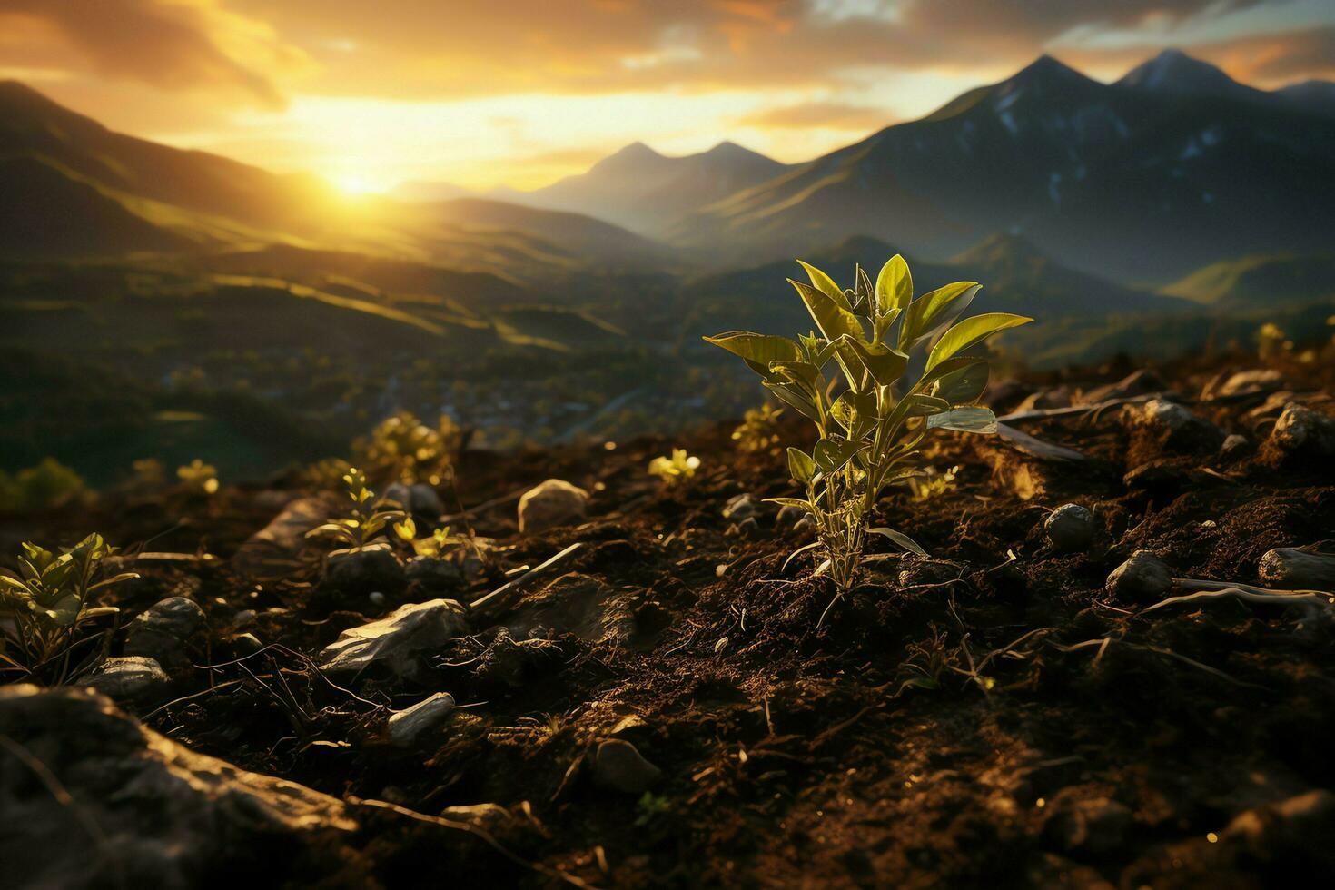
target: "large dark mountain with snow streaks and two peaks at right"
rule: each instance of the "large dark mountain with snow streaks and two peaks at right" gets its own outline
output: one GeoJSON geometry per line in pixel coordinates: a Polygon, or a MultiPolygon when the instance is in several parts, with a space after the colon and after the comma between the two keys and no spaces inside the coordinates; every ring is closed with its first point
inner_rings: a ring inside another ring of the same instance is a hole
{"type": "Polygon", "coordinates": [[[790,256],[874,235],[949,256],[1003,231],[1123,282],[1171,280],[1244,252],[1319,250],[1335,230],[1335,121],[1252,101],[1228,83],[1179,55],[1111,85],[1044,56],[668,234],[734,255],[790,256]]]}

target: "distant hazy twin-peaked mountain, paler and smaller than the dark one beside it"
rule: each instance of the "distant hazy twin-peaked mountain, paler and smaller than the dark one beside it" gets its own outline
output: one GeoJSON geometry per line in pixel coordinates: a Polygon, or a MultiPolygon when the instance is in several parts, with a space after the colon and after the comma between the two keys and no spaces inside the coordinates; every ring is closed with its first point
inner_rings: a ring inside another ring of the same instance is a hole
{"type": "Polygon", "coordinates": [[[643,235],[658,235],[684,213],[773,179],[777,160],[724,141],[706,152],[669,157],[633,143],[578,176],[511,200],[598,216],[643,235]]]}

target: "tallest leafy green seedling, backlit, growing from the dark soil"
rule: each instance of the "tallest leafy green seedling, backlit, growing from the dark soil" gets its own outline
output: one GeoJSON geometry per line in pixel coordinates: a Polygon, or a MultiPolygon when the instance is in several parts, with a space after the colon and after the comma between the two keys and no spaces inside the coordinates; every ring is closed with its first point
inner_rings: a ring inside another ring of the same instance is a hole
{"type": "Polygon", "coordinates": [[[854,286],[846,290],[818,268],[802,267],[810,284],[789,284],[818,335],[790,340],[729,331],[705,340],[740,356],[766,390],[816,426],[810,452],[788,450],[789,472],[806,496],[772,500],[816,519],[817,540],[808,548],[825,551],[821,570],[834,580],[833,606],[854,584],[866,535],[926,555],[906,534],[870,527],[877,499],[886,486],[918,472],[918,446],[929,431],[996,432],[992,411],[973,404],[988,384],[987,359],[967,354],[1033,319],[988,312],[957,320],[981,286],[956,282],[914,299],[913,278],[898,255],[874,286],[856,267],[854,286]],[[830,366],[837,371],[826,376],[830,366]]]}

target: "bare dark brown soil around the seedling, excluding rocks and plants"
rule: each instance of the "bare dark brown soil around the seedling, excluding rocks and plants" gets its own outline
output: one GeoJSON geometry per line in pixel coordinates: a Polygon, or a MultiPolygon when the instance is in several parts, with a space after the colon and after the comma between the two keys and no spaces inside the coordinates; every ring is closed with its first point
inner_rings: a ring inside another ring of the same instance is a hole
{"type": "MultiPolygon", "coordinates": [[[[451,595],[479,599],[505,570],[582,542],[533,591],[597,590],[626,619],[603,635],[538,628],[551,646],[498,666],[498,627],[514,618],[502,612],[475,622],[474,636],[415,685],[339,689],[311,670],[303,656],[340,630],[425,596],[410,587],[380,604],[331,598],[314,551],[278,576],[243,580],[228,558],[275,512],[254,488],[227,487],[212,502],[107,495],[37,527],[8,520],[4,552],[20,536],[71,542],[97,530],[121,546],[219,558],[142,564],[144,576],[111,595],[127,616],[187,595],[210,618],[196,664],[216,667],[196,670],[176,703],[135,710],[244,769],[399,807],[354,807],[352,842],[291,883],[1282,885],[1335,866],[1328,809],[1306,821],[1275,809],[1335,789],[1332,624],[1236,600],[1140,615],[1148,602],[1104,588],[1136,550],[1155,551],[1179,578],[1255,584],[1267,550],[1335,539],[1330,459],[1272,448],[1267,422],[1246,416],[1264,394],[1195,403],[1220,370],[1163,375],[1197,415],[1256,443],[1236,460],[1218,443],[1193,450],[1128,432],[1117,408],[1017,424],[1077,448],[1080,463],[1039,460],[996,438],[940,436],[929,459],[960,466],[953,487],[881,504],[932,558],[886,552],[869,563],[820,627],[830,586],[809,559],[782,568],[804,540],[773,512],[758,531],[732,534],[721,516],[738,494],[793,494],[778,450],[738,451],[728,426],[614,450],[467,454],[459,503],[551,476],[593,499],[585,524],[530,536],[517,534],[513,502],[479,512],[477,534],[498,547],[490,574],[451,595]],[[704,467],[668,490],[645,467],[674,444],[704,467]],[[1043,520],[1064,503],[1095,514],[1084,552],[1057,554],[1044,536],[1043,520]],[[280,646],[236,662],[250,651],[235,638],[242,610],[256,611],[242,630],[280,646]],[[462,706],[447,733],[425,747],[382,741],[388,709],[434,691],[462,706]],[[613,737],[662,770],[647,795],[591,781],[587,759],[613,737]],[[485,822],[503,853],[413,815],[479,803],[503,809],[485,822]],[[1260,827],[1230,830],[1248,810],[1260,827]]],[[[1335,391],[1328,367],[1294,366],[1286,378],[1335,414],[1319,395],[1335,391]]],[[[1033,386],[1012,388],[999,414],[1033,386]]],[[[784,432],[809,438],[796,423],[784,432]]],[[[443,495],[453,506],[455,492],[443,495]]]]}

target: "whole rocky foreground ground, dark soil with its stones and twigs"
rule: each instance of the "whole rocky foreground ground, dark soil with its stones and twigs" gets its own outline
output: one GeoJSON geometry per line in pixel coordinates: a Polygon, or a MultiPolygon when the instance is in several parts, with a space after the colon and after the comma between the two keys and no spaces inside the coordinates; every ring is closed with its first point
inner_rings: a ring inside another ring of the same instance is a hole
{"type": "Polygon", "coordinates": [[[330,555],[338,500],[295,475],[5,520],[5,559],[100,531],[142,578],[73,687],[0,687],[4,882],[1331,874],[1332,392],[1242,362],[996,387],[1004,434],[940,436],[945,494],[881,504],[930,558],[877,538],[820,627],[784,462],[730,427],[470,452],[414,502],[481,506],[443,559],[330,555]],[[704,466],[669,488],[674,444],[704,466]]]}

